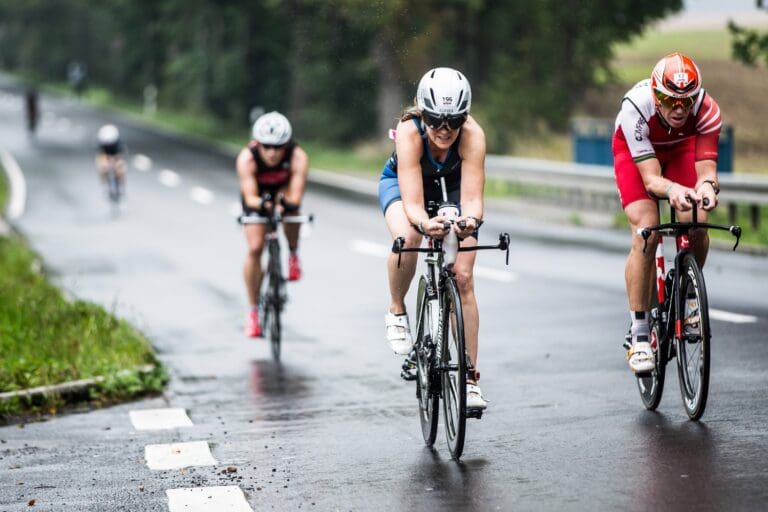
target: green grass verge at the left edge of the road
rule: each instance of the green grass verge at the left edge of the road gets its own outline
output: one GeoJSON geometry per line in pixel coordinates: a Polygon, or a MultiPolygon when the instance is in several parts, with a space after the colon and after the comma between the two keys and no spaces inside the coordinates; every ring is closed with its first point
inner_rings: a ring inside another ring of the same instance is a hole
{"type": "MultiPolygon", "coordinates": [[[[0,168],[0,197],[7,196],[0,168]]],[[[0,203],[3,204],[4,203],[0,203]]],[[[66,300],[18,235],[0,236],[0,392],[103,377],[96,403],[158,392],[168,380],[147,339],[92,303],[66,300]],[[151,365],[152,371],[140,371],[151,365]]],[[[0,400],[0,421],[52,413],[72,397],[0,400]]]]}

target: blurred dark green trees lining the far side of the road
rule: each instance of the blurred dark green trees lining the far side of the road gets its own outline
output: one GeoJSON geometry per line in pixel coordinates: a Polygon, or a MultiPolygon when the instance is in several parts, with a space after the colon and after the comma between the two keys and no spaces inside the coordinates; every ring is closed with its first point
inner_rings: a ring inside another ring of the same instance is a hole
{"type": "MultiPolygon", "coordinates": [[[[348,144],[384,137],[435,66],[461,69],[493,151],[564,129],[615,42],[681,0],[0,0],[0,65],[242,126],[252,107],[348,144]]],[[[605,73],[602,73],[605,75],[605,73]]]]}

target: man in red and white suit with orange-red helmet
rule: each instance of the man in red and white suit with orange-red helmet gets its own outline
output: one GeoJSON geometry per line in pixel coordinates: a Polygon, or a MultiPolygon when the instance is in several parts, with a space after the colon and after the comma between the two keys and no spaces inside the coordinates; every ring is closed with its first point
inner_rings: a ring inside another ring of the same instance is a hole
{"type": "MultiPolygon", "coordinates": [[[[648,316],[658,243],[652,235],[643,252],[637,229],[659,223],[659,198],[669,199],[683,222],[691,219],[692,203],[696,203],[703,210],[699,220],[706,221],[706,212],[717,206],[720,190],[717,142],[721,124],[720,107],[702,89],[699,68],[680,53],[662,58],[651,78],[638,82],[622,100],[612,148],[616,185],[632,229],[624,278],[632,320],[627,357],[633,372],[654,367],[648,316]]],[[[691,247],[703,265],[709,249],[706,230],[691,233],[691,247]]],[[[698,312],[687,314],[686,324],[694,325],[698,312]]]]}

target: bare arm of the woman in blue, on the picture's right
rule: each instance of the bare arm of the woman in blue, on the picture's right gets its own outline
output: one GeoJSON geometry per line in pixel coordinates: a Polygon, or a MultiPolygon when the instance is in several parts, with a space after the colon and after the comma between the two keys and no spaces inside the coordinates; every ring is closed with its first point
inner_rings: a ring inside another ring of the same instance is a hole
{"type": "Polygon", "coordinates": [[[459,236],[466,237],[477,228],[477,219],[483,218],[483,189],[485,187],[485,133],[469,116],[461,129],[459,145],[461,155],[461,217],[466,221],[459,236]]]}

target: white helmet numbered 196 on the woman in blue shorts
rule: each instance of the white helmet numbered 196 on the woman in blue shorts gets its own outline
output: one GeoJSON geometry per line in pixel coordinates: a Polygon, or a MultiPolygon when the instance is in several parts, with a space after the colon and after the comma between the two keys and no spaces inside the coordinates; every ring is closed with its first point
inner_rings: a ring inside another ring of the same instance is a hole
{"type": "Polygon", "coordinates": [[[469,113],[472,89],[467,77],[453,68],[429,70],[416,90],[416,105],[422,112],[438,116],[458,116],[469,113]]]}

